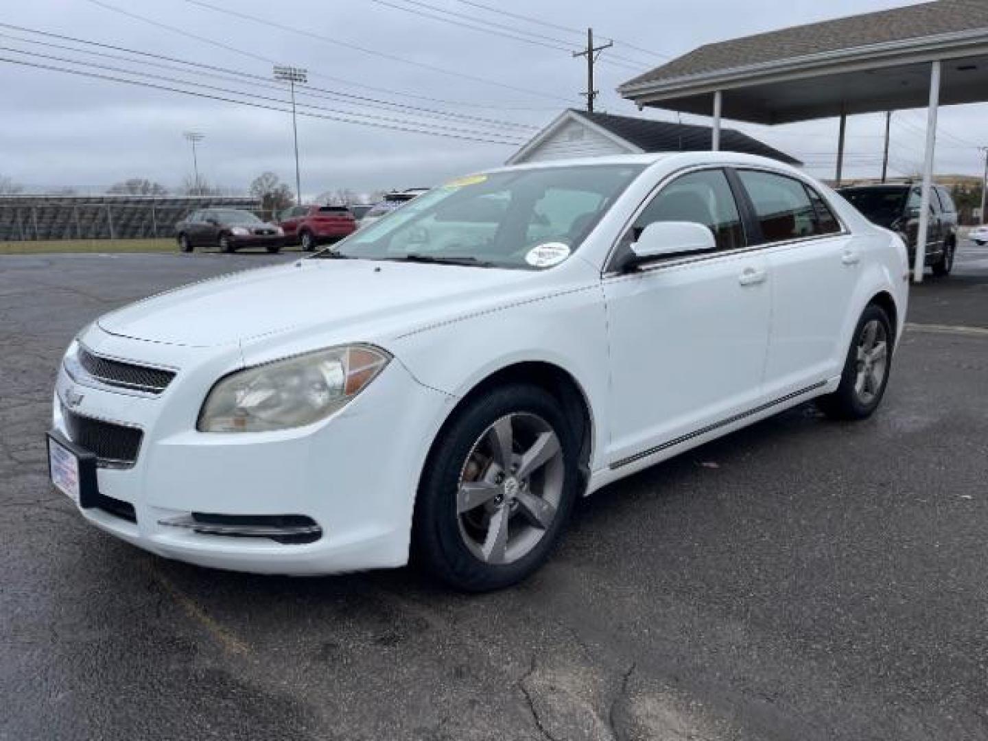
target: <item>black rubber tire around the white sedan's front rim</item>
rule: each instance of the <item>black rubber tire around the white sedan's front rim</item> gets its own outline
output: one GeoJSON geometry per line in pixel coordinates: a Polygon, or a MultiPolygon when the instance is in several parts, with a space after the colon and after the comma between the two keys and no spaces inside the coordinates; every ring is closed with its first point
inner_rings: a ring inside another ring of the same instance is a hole
{"type": "Polygon", "coordinates": [[[537,386],[500,386],[468,402],[440,433],[423,471],[412,529],[413,562],[467,592],[501,589],[528,577],[565,532],[579,487],[578,448],[559,404],[537,386]],[[491,564],[464,541],[456,512],[457,491],[475,443],[491,425],[513,414],[535,415],[555,433],[562,456],[562,484],[551,523],[532,549],[512,562],[491,564]]]}

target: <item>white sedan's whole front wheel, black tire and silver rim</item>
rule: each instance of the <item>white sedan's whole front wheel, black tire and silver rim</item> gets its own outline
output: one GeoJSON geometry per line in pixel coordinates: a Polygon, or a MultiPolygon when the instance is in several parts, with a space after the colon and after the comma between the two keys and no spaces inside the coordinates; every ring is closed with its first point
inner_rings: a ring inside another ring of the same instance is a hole
{"type": "Polygon", "coordinates": [[[415,509],[415,559],[470,592],[521,581],[561,539],[577,482],[577,445],[555,399],[523,384],[489,391],[433,446],[415,509]]]}

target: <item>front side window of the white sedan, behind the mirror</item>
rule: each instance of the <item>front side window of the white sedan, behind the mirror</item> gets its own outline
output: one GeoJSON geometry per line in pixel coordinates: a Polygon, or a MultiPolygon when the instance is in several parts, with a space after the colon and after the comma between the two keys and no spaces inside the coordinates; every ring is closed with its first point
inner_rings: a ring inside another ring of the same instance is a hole
{"type": "Polygon", "coordinates": [[[667,185],[635,219],[633,238],[653,221],[694,221],[709,227],[718,250],[745,246],[744,229],[723,170],[700,170],[667,185]]]}

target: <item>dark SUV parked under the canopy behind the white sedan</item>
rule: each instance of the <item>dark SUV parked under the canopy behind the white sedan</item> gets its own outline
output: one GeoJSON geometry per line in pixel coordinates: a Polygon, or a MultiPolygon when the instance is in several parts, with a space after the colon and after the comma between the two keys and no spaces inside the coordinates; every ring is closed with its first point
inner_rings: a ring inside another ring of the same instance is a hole
{"type": "MultiPolygon", "coordinates": [[[[920,224],[921,189],[918,185],[867,185],[838,190],[878,226],[897,232],[909,249],[909,264],[916,255],[916,236],[920,224]]],[[[930,192],[930,225],[927,228],[926,264],[934,275],[946,276],[953,267],[957,248],[957,207],[943,186],[930,192]]]]}

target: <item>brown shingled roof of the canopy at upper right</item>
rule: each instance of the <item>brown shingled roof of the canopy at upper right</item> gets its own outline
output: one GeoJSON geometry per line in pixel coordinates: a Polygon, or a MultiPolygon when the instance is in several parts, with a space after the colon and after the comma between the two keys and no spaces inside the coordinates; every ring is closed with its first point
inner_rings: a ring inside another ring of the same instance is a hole
{"type": "Polygon", "coordinates": [[[628,80],[643,83],[678,79],[783,59],[988,28],[988,0],[939,0],[832,21],[793,26],[767,34],[708,43],[628,80]]]}

